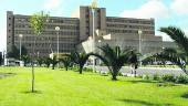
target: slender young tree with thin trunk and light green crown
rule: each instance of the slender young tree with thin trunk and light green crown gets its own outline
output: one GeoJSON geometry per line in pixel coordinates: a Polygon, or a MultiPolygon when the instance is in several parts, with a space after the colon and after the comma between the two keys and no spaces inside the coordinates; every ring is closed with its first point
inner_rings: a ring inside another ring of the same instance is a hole
{"type": "MultiPolygon", "coordinates": [[[[41,35],[43,30],[44,30],[44,26],[45,26],[45,22],[49,18],[49,14],[45,14],[43,11],[42,12],[39,12],[39,13],[34,13],[33,15],[31,15],[30,18],[30,25],[31,28],[33,29],[34,31],[34,34],[36,35],[41,35]]],[[[35,45],[35,40],[33,40],[33,44],[35,45]]],[[[33,49],[33,55],[32,55],[32,89],[31,92],[33,93],[34,92],[34,45],[32,46],[33,49]]]]}

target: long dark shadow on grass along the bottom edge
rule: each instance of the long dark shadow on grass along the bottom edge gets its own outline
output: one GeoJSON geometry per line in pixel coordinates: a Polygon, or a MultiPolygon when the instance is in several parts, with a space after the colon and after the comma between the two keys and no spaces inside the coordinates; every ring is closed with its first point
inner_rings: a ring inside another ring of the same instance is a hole
{"type": "Polygon", "coordinates": [[[142,106],[174,106],[173,104],[153,104],[144,100],[137,100],[137,99],[118,99],[121,102],[129,103],[129,104],[138,104],[142,106]]]}

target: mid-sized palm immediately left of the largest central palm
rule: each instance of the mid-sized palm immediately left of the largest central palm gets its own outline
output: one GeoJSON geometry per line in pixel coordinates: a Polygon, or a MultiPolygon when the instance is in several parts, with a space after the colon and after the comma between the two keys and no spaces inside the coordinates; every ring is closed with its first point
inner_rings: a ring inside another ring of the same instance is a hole
{"type": "Polygon", "coordinates": [[[84,64],[86,63],[86,61],[88,60],[88,57],[92,55],[93,53],[79,53],[79,52],[72,52],[71,54],[67,54],[69,57],[71,57],[72,62],[74,62],[75,64],[79,65],[79,72],[80,74],[82,74],[84,64]]]}

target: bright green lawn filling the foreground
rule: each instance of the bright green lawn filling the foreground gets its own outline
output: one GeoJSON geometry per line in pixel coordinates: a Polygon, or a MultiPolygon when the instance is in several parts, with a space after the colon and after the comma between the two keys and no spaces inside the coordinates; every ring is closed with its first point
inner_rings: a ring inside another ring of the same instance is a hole
{"type": "Polygon", "coordinates": [[[0,106],[188,106],[188,85],[158,87],[155,82],[95,73],[36,68],[38,93],[29,93],[31,68],[0,67],[0,106]]]}

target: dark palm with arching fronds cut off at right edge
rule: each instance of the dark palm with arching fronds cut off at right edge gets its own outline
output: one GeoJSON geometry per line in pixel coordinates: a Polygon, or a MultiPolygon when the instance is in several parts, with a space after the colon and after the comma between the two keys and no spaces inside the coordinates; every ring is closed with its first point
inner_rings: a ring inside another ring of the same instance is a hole
{"type": "MultiPolygon", "coordinates": [[[[181,29],[176,28],[176,26],[168,26],[168,28],[160,28],[159,30],[160,32],[166,33],[167,35],[169,35],[177,44],[178,46],[186,53],[186,56],[188,56],[188,38],[186,36],[185,32],[181,31],[181,29]]],[[[166,55],[167,56],[167,55],[166,55]]],[[[179,56],[177,54],[177,56],[179,56]]],[[[170,56],[171,57],[171,56],[170,56]]],[[[178,57],[178,61],[182,61],[185,57],[178,57]]],[[[174,60],[175,61],[175,60],[174,60]]],[[[181,70],[188,74],[188,72],[186,71],[186,60],[184,60],[184,64],[181,62],[178,62],[178,66],[181,67],[181,70]]]]}

